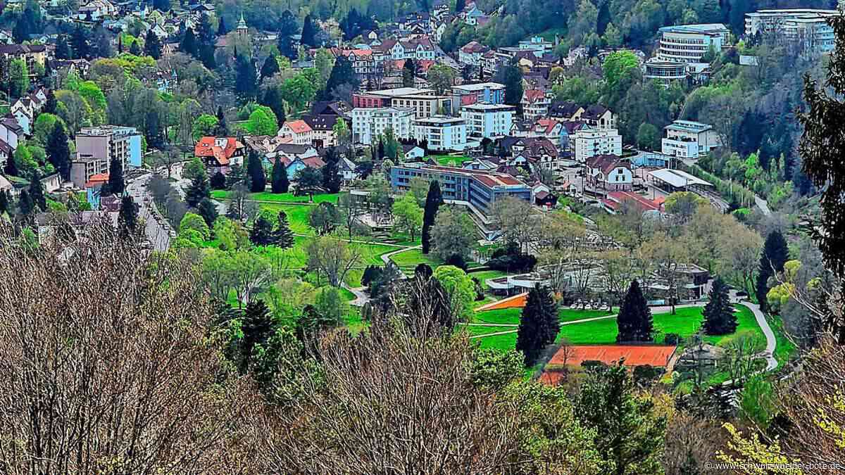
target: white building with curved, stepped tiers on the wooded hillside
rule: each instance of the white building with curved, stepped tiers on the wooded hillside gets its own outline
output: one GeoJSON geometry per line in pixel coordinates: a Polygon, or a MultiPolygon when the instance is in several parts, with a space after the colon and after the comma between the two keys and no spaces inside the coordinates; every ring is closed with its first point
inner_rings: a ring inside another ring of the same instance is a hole
{"type": "Polygon", "coordinates": [[[721,23],[664,26],[659,32],[657,52],[646,61],[647,79],[668,82],[701,73],[710,65],[703,59],[707,52],[720,52],[728,44],[729,31],[721,23]]]}

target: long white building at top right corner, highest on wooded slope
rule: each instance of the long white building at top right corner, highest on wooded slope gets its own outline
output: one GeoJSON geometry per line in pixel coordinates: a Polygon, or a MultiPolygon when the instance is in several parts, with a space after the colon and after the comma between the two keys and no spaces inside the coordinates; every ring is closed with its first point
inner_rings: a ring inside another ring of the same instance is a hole
{"type": "Polygon", "coordinates": [[[745,35],[775,35],[776,39],[803,43],[805,54],[831,52],[836,44],[827,17],[836,10],[783,8],[745,14],[745,35]]]}

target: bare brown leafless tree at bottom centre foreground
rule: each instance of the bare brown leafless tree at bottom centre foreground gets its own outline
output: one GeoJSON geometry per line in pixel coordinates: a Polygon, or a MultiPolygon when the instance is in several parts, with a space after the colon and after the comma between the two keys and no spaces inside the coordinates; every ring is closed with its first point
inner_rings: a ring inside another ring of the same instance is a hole
{"type": "Polygon", "coordinates": [[[474,387],[466,337],[402,325],[319,344],[319,375],[270,419],[275,473],[503,473],[518,460],[514,412],[474,387]]]}

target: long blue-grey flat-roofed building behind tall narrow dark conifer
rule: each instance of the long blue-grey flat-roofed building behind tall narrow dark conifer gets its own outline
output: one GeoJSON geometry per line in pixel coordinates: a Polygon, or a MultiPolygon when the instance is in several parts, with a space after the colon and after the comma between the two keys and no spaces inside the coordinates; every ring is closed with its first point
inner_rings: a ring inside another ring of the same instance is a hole
{"type": "Polygon", "coordinates": [[[514,197],[531,200],[531,188],[507,173],[424,163],[406,163],[390,168],[390,185],[396,191],[406,190],[414,177],[437,180],[444,199],[468,204],[483,217],[490,215],[498,199],[514,197]]]}

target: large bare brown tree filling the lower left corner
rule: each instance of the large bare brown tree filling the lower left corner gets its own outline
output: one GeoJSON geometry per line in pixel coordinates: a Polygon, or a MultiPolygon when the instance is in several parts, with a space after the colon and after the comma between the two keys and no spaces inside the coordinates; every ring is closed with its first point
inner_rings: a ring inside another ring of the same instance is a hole
{"type": "Polygon", "coordinates": [[[32,248],[0,227],[0,472],[247,472],[256,406],[194,271],[110,226],[80,235],[32,248]]]}

